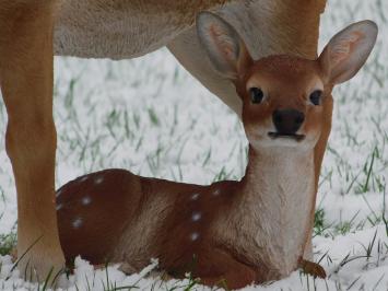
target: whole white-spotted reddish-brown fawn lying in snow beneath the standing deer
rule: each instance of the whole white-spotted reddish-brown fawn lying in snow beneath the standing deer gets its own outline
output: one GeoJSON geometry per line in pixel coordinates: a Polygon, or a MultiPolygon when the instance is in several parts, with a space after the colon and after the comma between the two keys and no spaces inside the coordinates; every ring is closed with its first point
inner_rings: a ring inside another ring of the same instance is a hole
{"type": "Polygon", "coordinates": [[[333,85],[351,79],[377,36],[372,21],[354,23],[316,60],[273,55],[254,60],[225,20],[210,12],[197,31],[214,70],[231,80],[243,103],[249,141],[239,182],[209,186],[105,170],[57,191],[59,235],[68,261],[124,263],[128,272],[158,258],[176,277],[191,271],[228,288],[277,280],[303,267],[315,201],[314,149],[333,85]]]}

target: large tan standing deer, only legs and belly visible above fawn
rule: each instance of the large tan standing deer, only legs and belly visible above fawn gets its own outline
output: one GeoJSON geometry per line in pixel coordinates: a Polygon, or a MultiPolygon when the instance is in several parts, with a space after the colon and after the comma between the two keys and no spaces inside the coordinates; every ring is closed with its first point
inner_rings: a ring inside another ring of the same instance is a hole
{"type": "MultiPolygon", "coordinates": [[[[17,254],[33,246],[21,269],[28,265],[42,279],[51,267],[58,270],[64,264],[54,206],[52,51],[121,59],[168,45],[197,79],[240,115],[233,84],[212,70],[199,46],[192,27],[196,13],[213,8],[222,14],[255,59],[282,53],[314,59],[325,4],[326,0],[227,4],[226,0],[0,0],[0,84],[9,116],[7,152],[17,191],[17,254]]],[[[328,101],[314,154],[316,188],[331,110],[328,101]]],[[[310,223],[313,216],[311,206],[310,223]]]]}

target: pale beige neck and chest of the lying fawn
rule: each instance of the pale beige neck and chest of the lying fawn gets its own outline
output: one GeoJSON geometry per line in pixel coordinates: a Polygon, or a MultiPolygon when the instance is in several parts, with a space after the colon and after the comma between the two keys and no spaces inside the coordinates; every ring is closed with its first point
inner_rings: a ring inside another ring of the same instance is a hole
{"type": "Polygon", "coordinates": [[[233,217],[255,254],[289,272],[303,254],[313,206],[314,152],[294,148],[249,149],[233,217]]]}

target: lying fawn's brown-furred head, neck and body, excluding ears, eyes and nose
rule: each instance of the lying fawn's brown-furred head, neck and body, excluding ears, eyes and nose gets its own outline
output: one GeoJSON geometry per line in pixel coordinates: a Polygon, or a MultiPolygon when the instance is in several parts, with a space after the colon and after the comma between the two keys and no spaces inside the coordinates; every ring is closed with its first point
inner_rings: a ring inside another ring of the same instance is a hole
{"type": "MultiPolygon", "coordinates": [[[[273,56],[246,70],[238,92],[250,148],[240,182],[198,186],[108,170],[60,188],[59,232],[67,259],[80,254],[94,264],[125,261],[127,269],[139,271],[156,257],[175,277],[191,271],[203,283],[225,282],[228,288],[283,278],[299,264],[324,276],[303,258],[316,190],[311,158],[325,107],[309,105],[307,92],[314,89],[311,82],[322,82],[319,66],[273,56]],[[259,106],[247,94],[257,80],[271,95],[259,106]],[[262,140],[272,142],[268,120],[283,107],[305,114],[299,129],[305,140],[291,148],[281,140],[262,148],[262,140]],[[89,206],[82,206],[83,197],[91,197],[89,206]],[[74,228],[78,217],[84,222],[74,228]]],[[[329,94],[331,86],[325,90],[329,94]]]]}

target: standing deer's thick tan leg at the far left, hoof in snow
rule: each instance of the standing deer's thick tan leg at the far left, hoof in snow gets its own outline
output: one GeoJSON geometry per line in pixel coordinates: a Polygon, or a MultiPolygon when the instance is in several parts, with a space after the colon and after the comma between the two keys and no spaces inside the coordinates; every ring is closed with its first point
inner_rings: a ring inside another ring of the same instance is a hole
{"type": "Polygon", "coordinates": [[[26,252],[19,267],[37,280],[64,263],[55,210],[52,10],[49,0],[0,1],[0,85],[17,191],[17,256],[26,252]]]}

